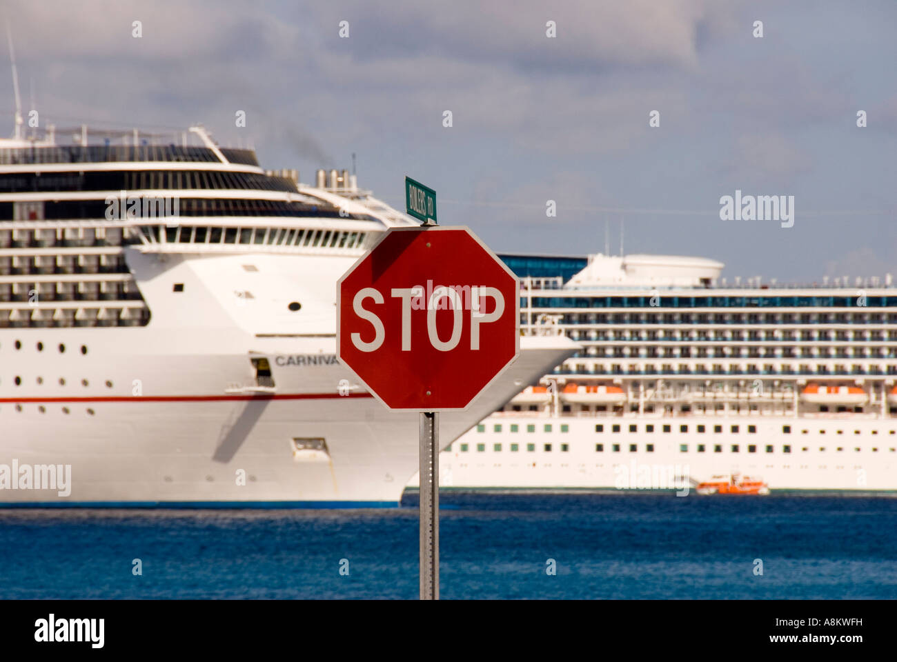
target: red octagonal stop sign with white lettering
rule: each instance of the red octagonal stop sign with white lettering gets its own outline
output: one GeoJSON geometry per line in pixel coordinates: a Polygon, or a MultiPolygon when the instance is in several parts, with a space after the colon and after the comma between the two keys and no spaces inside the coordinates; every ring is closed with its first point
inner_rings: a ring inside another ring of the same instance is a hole
{"type": "Polygon", "coordinates": [[[464,409],[517,358],[519,310],[467,228],[393,228],[336,283],[337,356],[390,409],[464,409]]]}

